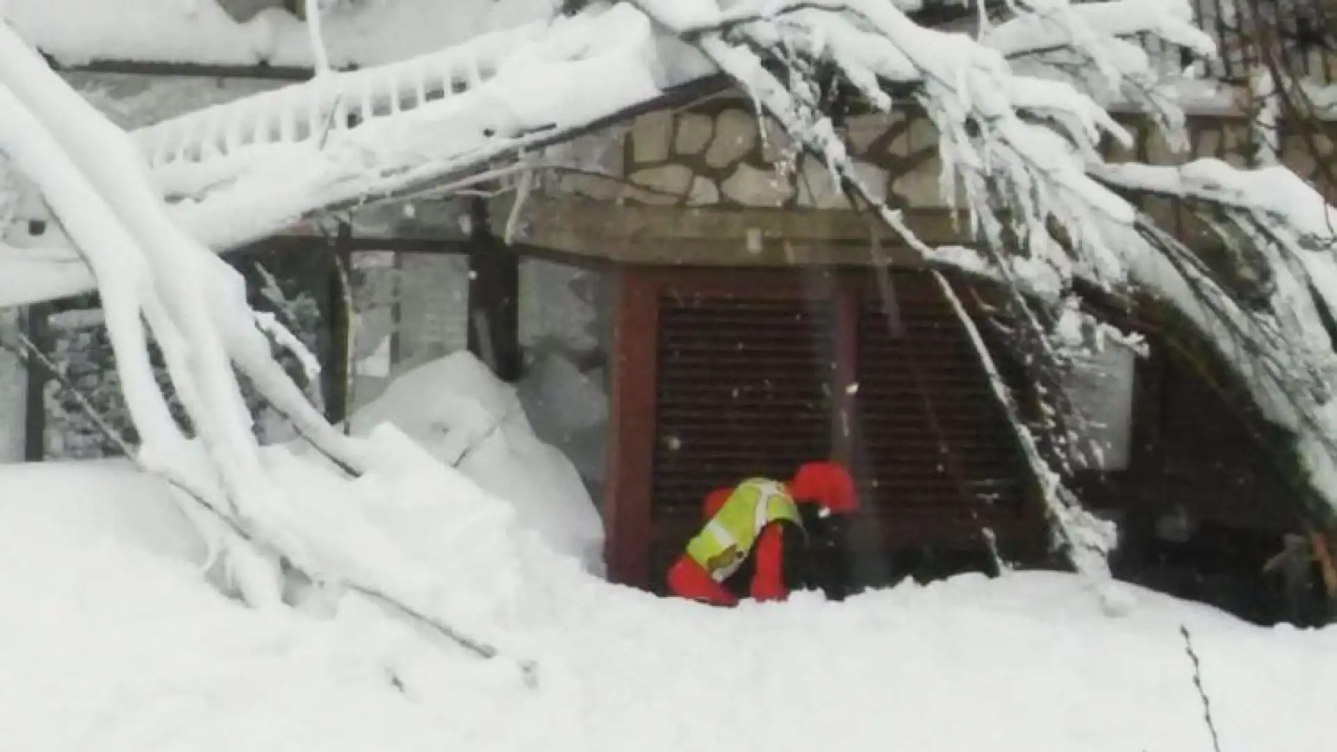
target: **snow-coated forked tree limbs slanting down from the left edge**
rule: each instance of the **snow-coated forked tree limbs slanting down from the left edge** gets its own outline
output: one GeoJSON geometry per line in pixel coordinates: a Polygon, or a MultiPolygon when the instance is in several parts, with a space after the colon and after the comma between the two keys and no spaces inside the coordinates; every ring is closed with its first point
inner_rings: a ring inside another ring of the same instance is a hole
{"type": "MultiPolygon", "coordinates": [[[[126,134],[7,27],[0,28],[0,150],[40,187],[98,278],[127,403],[144,438],[132,459],[179,488],[186,514],[213,545],[226,546],[225,563],[246,601],[281,605],[283,569],[294,569],[321,589],[362,594],[471,652],[496,656],[441,616],[433,573],[368,522],[345,475],[308,462],[301,483],[277,478],[273,454],[282,450],[262,452],[234,364],[330,459],[354,471],[372,459],[364,443],[326,423],[274,361],[241,276],[172,221],[126,134]],[[154,381],[142,321],[163,352],[193,440],[154,381]]],[[[377,464],[396,462],[405,459],[382,456],[377,464]]]]}

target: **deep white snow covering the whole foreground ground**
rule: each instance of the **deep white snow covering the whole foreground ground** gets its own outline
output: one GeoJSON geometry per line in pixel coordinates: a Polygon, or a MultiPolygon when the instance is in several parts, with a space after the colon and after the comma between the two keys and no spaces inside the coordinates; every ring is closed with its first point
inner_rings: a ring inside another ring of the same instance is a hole
{"type": "Polygon", "coordinates": [[[1181,624],[1223,749],[1332,729],[1333,630],[1146,591],[1111,616],[1060,574],[711,610],[584,574],[463,476],[358,483],[460,624],[537,661],[536,688],[354,602],[321,617],[223,598],[163,490],[126,466],[8,466],[3,747],[1206,752],[1181,624]]]}

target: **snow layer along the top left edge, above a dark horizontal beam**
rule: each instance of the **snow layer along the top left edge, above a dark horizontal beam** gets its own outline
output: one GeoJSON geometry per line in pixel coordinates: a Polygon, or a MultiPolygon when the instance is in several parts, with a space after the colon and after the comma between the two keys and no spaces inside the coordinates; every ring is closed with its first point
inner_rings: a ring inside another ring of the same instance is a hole
{"type": "MultiPolygon", "coordinates": [[[[330,64],[374,66],[548,19],[556,4],[361,0],[330,8],[322,16],[322,32],[330,64]]],[[[234,20],[217,0],[8,0],[0,8],[20,36],[67,66],[94,60],[313,64],[305,24],[279,7],[263,8],[245,21],[234,20]]]]}

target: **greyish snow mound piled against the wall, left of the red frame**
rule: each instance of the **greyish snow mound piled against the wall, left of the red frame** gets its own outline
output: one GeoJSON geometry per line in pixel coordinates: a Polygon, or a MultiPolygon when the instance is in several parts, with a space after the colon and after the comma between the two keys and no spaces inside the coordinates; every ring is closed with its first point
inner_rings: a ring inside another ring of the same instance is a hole
{"type": "Polygon", "coordinates": [[[461,351],[409,371],[352,419],[357,435],[381,423],[513,504],[552,549],[602,571],[603,522],[580,475],[535,436],[516,391],[480,360],[461,351]]]}

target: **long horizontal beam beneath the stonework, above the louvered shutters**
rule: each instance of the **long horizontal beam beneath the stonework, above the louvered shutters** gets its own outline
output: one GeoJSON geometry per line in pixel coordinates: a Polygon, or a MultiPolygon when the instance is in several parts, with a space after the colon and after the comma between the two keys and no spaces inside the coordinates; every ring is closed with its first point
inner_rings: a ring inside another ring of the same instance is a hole
{"type": "MultiPolygon", "coordinates": [[[[509,213],[505,203],[499,209],[493,222],[509,213]]],[[[562,195],[531,197],[521,215],[525,244],[622,264],[866,266],[874,262],[874,233],[893,265],[919,264],[890,230],[854,211],[632,206],[562,195]]],[[[905,219],[931,245],[968,241],[948,211],[906,211],[905,219]]]]}

